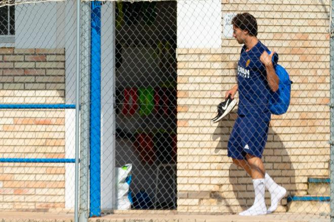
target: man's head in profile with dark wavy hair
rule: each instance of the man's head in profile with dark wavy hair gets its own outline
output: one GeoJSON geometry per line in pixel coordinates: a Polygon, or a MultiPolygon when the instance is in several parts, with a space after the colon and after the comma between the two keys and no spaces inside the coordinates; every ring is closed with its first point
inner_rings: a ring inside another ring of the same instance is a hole
{"type": "Polygon", "coordinates": [[[248,36],[258,35],[258,23],[249,13],[237,14],[232,19],[233,36],[242,44],[248,36]]]}

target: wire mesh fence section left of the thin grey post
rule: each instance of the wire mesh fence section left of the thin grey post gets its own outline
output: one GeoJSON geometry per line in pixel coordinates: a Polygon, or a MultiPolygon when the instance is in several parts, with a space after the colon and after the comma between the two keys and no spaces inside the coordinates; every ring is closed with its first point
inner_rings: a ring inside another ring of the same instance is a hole
{"type": "Polygon", "coordinates": [[[0,8],[0,210],[11,211],[4,219],[74,215],[73,13],[69,3],[0,8]]]}

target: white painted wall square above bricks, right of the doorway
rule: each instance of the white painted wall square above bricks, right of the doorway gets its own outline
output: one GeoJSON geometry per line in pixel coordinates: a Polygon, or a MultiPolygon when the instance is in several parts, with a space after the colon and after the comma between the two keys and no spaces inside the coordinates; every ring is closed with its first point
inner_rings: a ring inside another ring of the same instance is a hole
{"type": "Polygon", "coordinates": [[[221,0],[179,0],[177,11],[178,48],[221,47],[221,0]]]}

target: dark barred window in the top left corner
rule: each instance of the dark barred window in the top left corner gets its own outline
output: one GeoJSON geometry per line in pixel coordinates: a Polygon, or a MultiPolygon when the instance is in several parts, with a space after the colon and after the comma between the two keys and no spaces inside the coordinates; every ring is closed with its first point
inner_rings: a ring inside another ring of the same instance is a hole
{"type": "MultiPolygon", "coordinates": [[[[10,4],[13,0],[8,0],[10,4]]],[[[15,6],[0,6],[0,36],[15,35],[15,6]]]]}

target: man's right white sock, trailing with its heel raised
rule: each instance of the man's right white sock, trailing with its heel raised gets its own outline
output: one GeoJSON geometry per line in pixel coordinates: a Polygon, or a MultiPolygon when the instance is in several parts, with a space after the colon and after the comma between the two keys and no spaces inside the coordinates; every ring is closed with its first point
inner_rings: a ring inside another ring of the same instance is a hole
{"type": "Polygon", "coordinates": [[[275,181],[267,173],[265,175],[265,180],[266,188],[270,192],[271,196],[271,206],[268,208],[267,213],[272,213],[277,209],[281,199],[285,196],[286,190],[284,187],[276,184],[275,181]]]}

